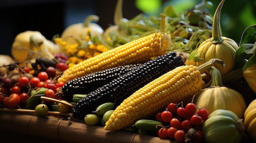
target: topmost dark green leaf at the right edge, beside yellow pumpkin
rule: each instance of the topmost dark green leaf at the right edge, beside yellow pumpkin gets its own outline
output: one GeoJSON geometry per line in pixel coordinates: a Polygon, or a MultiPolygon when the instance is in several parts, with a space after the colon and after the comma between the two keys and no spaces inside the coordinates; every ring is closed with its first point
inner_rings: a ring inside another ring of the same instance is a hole
{"type": "Polygon", "coordinates": [[[254,44],[256,41],[256,25],[251,25],[243,32],[239,47],[243,44],[254,44]]]}

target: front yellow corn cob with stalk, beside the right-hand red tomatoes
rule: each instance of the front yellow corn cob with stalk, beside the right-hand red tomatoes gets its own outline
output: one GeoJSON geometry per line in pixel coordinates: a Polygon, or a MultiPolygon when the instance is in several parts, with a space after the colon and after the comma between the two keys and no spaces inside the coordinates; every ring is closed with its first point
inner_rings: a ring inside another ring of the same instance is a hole
{"type": "Polygon", "coordinates": [[[209,61],[200,67],[179,66],[151,81],[115,109],[104,129],[121,130],[139,119],[152,117],[156,112],[166,108],[168,103],[178,103],[192,97],[202,89],[201,73],[214,63],[209,61]]]}

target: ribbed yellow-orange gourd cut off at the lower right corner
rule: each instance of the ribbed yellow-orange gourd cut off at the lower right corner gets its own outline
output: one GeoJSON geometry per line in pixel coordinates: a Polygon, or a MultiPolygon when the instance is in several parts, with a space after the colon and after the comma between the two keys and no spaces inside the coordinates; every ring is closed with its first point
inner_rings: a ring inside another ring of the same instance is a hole
{"type": "Polygon", "coordinates": [[[245,132],[256,142],[256,99],[254,99],[244,114],[245,132]]]}

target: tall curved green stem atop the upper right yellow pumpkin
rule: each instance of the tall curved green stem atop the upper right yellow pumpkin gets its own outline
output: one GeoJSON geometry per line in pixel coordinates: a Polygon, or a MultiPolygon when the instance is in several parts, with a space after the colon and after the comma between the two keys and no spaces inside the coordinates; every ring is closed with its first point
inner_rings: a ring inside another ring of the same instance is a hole
{"type": "Polygon", "coordinates": [[[212,37],[211,37],[211,42],[213,42],[213,44],[220,44],[222,41],[224,41],[224,39],[222,39],[221,29],[220,29],[220,11],[224,1],[225,0],[222,0],[220,2],[213,16],[212,37]]]}

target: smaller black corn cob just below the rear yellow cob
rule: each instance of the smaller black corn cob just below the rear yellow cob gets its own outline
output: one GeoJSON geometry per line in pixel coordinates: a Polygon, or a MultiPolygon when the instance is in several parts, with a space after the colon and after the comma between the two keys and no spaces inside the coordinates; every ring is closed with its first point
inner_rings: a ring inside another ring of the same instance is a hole
{"type": "Polygon", "coordinates": [[[72,79],[59,90],[59,97],[73,102],[74,94],[88,94],[140,65],[142,64],[118,66],[72,79]]]}

